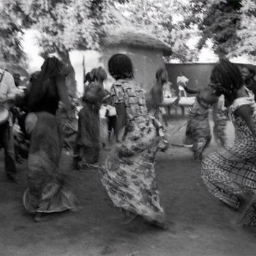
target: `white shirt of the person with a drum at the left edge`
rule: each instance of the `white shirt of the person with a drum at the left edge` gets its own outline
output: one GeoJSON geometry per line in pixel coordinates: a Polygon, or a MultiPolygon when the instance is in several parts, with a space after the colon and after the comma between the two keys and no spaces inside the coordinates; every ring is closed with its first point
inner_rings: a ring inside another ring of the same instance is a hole
{"type": "Polygon", "coordinates": [[[15,99],[17,95],[22,95],[23,91],[15,86],[14,79],[10,72],[0,69],[0,103],[7,99],[15,99]],[[3,76],[2,76],[3,75],[3,76]]]}

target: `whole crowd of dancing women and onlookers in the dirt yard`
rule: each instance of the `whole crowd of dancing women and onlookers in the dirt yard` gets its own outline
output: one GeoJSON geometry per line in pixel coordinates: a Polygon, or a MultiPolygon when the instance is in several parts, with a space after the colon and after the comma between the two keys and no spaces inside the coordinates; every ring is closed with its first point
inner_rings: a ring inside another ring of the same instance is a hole
{"type": "MultiPolygon", "coordinates": [[[[127,55],[113,55],[108,61],[108,72],[116,80],[110,91],[105,90],[107,72],[102,67],[86,74],[83,108],[78,114],[73,145],[73,167],[99,170],[102,186],[113,205],[124,212],[126,223],[140,217],[166,229],[155,158],[158,151],[166,151],[170,146],[165,136],[167,120],[162,103],[164,97],[173,95],[167,71],[157,69],[155,83],[148,92],[135,80],[127,55]],[[99,161],[100,148],[106,146],[101,139],[102,115],[108,121],[107,140],[111,132],[115,138],[104,162],[99,161]]],[[[50,57],[45,59],[40,72],[31,75],[29,88],[23,90],[15,86],[10,72],[0,69],[0,146],[4,148],[5,170],[10,181],[18,181],[12,129],[16,115],[29,148],[28,154],[22,155],[28,158],[28,188],[23,206],[34,214],[36,222],[53,212],[80,209],[78,198],[65,187],[64,175],[59,170],[65,141],[64,122],[70,119],[72,110],[65,84],[67,75],[67,65],[50,57]]],[[[177,79],[180,91],[196,94],[189,109],[184,144],[192,146],[194,159],[201,163],[206,189],[234,208],[237,211],[234,222],[243,225],[256,225],[254,75],[248,67],[240,70],[236,64],[221,60],[203,89],[187,86],[188,79],[182,73],[177,79]],[[211,141],[209,109],[214,111],[214,136],[219,149],[203,158],[203,151],[211,141]],[[228,118],[236,131],[231,143],[225,138],[228,118]]],[[[173,105],[178,104],[181,96],[177,94],[173,105]]]]}

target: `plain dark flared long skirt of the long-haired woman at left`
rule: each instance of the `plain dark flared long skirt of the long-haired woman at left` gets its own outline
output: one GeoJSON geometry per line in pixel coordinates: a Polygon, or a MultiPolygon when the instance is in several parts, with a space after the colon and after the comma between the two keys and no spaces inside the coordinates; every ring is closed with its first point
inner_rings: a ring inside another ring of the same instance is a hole
{"type": "Polygon", "coordinates": [[[31,134],[29,162],[26,173],[28,189],[23,205],[30,213],[75,211],[78,199],[64,186],[59,170],[61,157],[61,126],[50,113],[30,113],[26,129],[31,134]]]}

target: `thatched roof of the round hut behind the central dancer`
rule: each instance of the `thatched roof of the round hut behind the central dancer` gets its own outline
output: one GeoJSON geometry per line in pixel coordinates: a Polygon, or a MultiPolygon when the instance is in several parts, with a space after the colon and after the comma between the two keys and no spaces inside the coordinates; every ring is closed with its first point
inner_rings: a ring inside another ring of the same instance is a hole
{"type": "Polygon", "coordinates": [[[117,45],[127,45],[135,48],[144,48],[152,50],[162,50],[164,56],[170,56],[171,48],[165,42],[154,37],[146,31],[138,30],[134,27],[129,28],[111,28],[105,31],[105,37],[102,38],[103,48],[117,45]]]}

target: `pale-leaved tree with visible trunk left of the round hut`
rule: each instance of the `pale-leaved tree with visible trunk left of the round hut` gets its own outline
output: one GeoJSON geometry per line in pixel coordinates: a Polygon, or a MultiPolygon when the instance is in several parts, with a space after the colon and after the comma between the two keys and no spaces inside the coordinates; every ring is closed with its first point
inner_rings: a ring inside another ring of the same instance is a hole
{"type": "MultiPolygon", "coordinates": [[[[16,0],[18,1],[18,0],[16,0]]],[[[42,56],[58,53],[69,64],[67,85],[75,95],[75,70],[69,59],[70,50],[99,50],[102,27],[110,22],[113,0],[20,0],[24,26],[39,31],[42,56]]]]}

